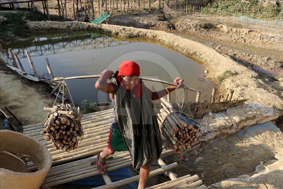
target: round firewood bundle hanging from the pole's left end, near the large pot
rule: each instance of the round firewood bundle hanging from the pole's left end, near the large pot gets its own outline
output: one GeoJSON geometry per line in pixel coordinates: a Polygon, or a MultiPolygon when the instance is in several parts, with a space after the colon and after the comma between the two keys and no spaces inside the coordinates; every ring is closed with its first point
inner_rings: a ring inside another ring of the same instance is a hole
{"type": "Polygon", "coordinates": [[[57,104],[50,107],[43,107],[44,110],[50,111],[45,119],[45,129],[40,133],[45,135],[45,140],[52,140],[53,147],[57,150],[67,152],[78,147],[78,141],[83,135],[81,119],[83,115],[80,108],[72,107],[70,104],[57,104]]]}

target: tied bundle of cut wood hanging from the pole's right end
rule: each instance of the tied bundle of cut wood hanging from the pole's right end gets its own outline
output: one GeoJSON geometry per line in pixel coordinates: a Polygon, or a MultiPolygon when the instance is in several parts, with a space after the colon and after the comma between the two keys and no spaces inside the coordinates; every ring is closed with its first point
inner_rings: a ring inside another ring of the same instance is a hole
{"type": "Polygon", "coordinates": [[[159,128],[172,146],[176,154],[190,148],[196,143],[200,126],[188,116],[179,116],[176,113],[177,108],[170,104],[166,99],[161,98],[161,105],[158,114],[159,128]],[[168,106],[168,107],[167,107],[168,106]]]}

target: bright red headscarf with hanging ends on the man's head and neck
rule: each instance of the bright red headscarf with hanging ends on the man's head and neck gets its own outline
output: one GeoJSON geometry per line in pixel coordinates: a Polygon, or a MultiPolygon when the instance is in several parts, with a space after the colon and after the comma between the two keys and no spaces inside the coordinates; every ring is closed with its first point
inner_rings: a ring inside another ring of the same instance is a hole
{"type": "MultiPolygon", "coordinates": [[[[141,72],[139,69],[139,65],[134,61],[127,60],[120,64],[117,80],[120,81],[122,87],[125,90],[128,90],[123,84],[122,78],[120,76],[135,76],[135,75],[139,75],[140,73],[141,72]]],[[[138,98],[141,96],[141,90],[144,88],[144,86],[140,86],[140,85],[141,85],[141,79],[139,79],[138,84],[134,87],[134,94],[136,100],[138,100],[138,98]]]]}

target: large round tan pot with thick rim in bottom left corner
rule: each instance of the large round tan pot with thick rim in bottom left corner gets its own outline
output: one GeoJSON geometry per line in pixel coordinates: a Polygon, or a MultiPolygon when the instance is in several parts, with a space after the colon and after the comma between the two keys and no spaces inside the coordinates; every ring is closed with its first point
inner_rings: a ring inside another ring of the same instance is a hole
{"type": "MultiPolygon", "coordinates": [[[[51,164],[52,156],[43,144],[29,136],[9,130],[0,131],[0,150],[24,154],[37,167],[38,171],[21,173],[0,168],[0,188],[34,188],[38,189],[51,164]]],[[[2,164],[2,162],[1,162],[2,164]]],[[[7,166],[6,166],[7,168],[7,166]]]]}

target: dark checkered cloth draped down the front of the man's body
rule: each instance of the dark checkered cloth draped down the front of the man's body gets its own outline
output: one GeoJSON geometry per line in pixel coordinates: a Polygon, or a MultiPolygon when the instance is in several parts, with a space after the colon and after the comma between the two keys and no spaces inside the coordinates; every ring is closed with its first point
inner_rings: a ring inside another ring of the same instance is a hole
{"type": "MultiPolygon", "coordinates": [[[[113,79],[113,84],[120,132],[133,160],[133,168],[136,170],[143,165],[151,165],[161,155],[162,142],[157,116],[150,95],[144,87],[141,97],[138,98],[141,111],[140,128],[142,130],[142,136],[140,142],[136,144],[135,137],[137,136],[133,128],[133,122],[136,123],[136,116],[131,106],[131,100],[126,94],[126,90],[120,86],[121,83],[116,78],[113,79]]],[[[144,85],[143,82],[141,82],[142,85],[144,85]]]]}

